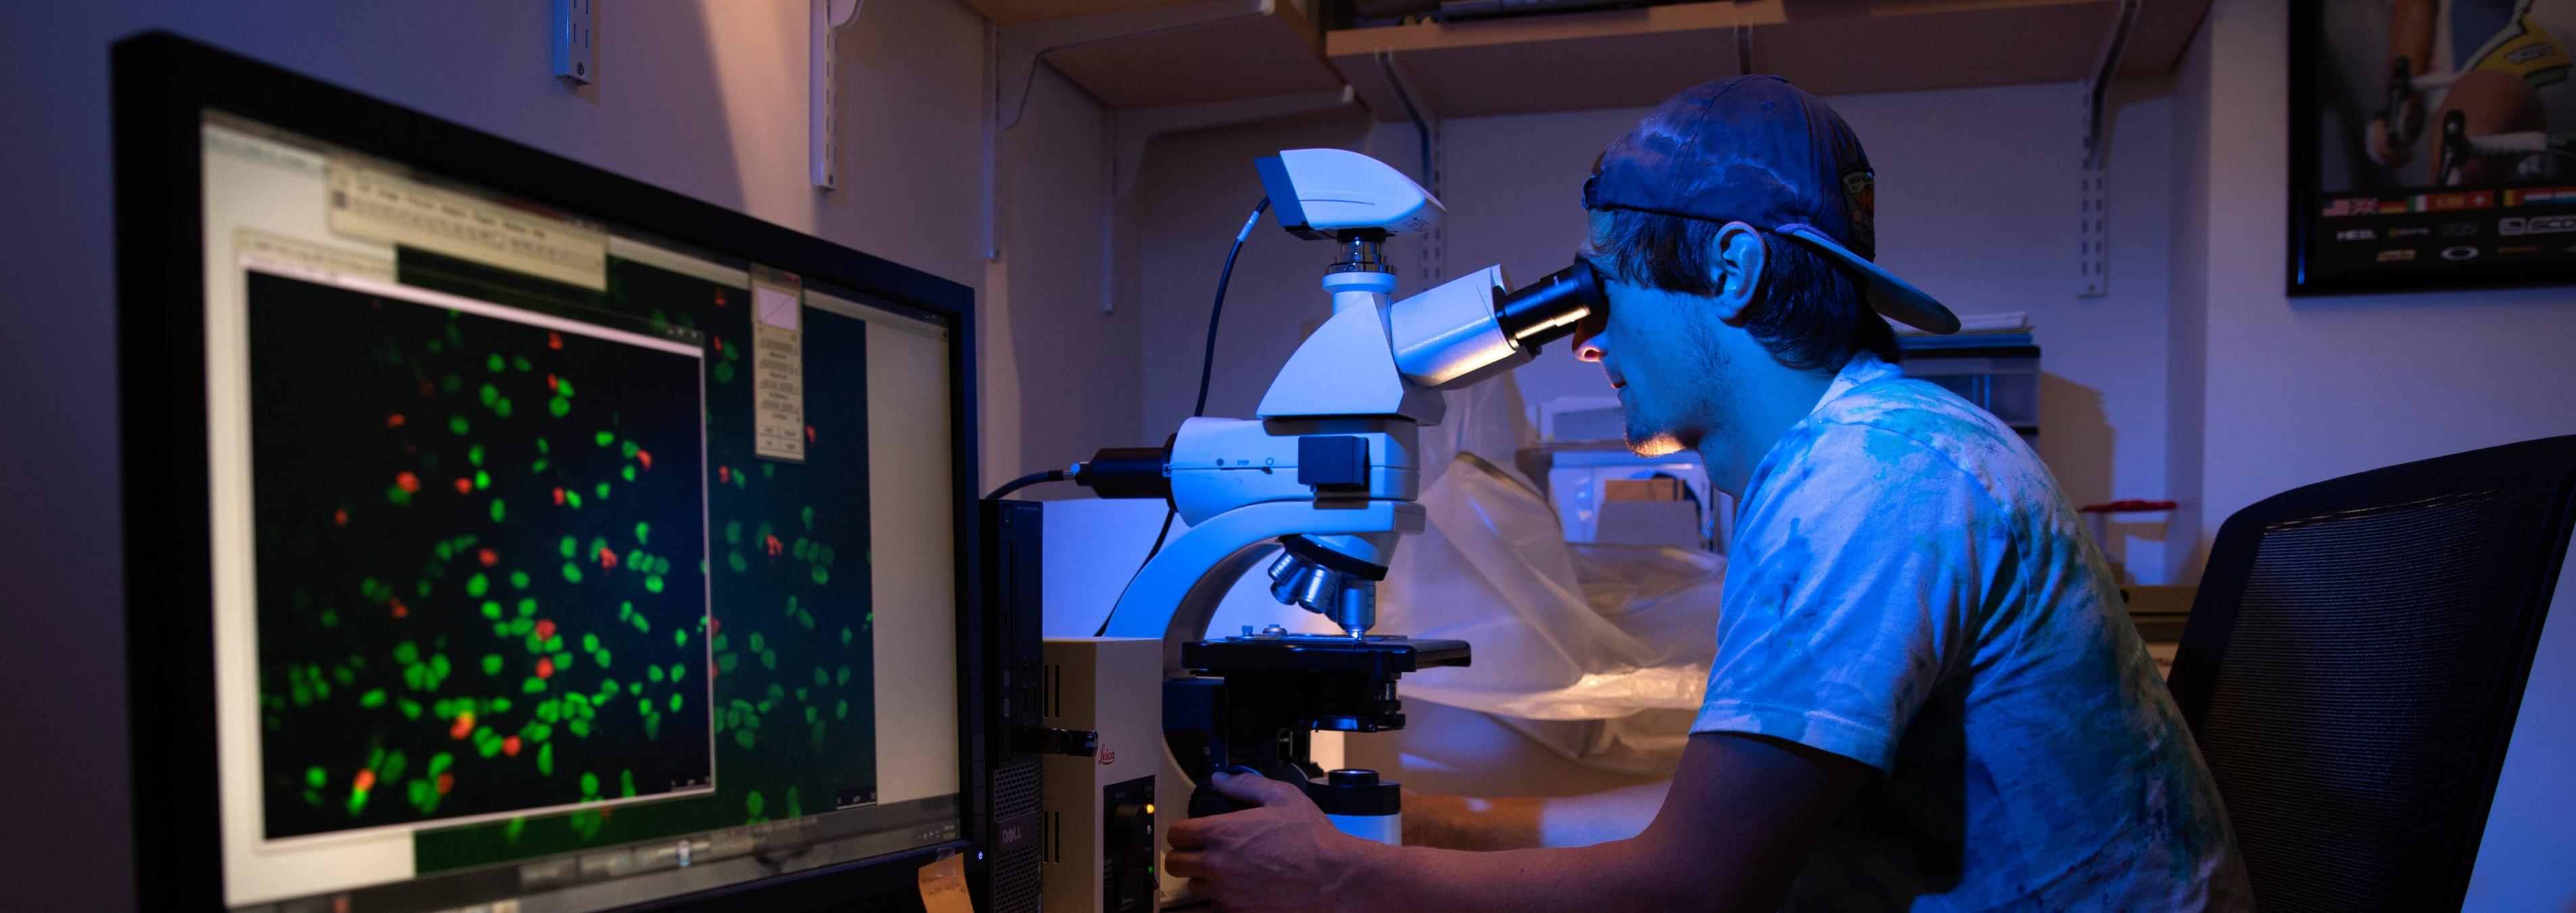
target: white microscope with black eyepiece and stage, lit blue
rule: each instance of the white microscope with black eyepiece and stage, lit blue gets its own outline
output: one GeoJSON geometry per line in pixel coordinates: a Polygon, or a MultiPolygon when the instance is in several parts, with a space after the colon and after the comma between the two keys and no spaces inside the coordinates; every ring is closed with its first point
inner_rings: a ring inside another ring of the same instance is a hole
{"type": "Polygon", "coordinates": [[[1309,741],[1404,728],[1396,679],[1471,658],[1463,640],[1373,633],[1388,558],[1425,527],[1419,429],[1443,419],[1440,391],[1528,363],[1605,296],[1577,260],[1525,288],[1494,265],[1399,301],[1383,244],[1435,226],[1440,201],[1342,149],[1288,149],[1257,172],[1283,229],[1334,244],[1321,278],[1332,319],[1270,381],[1255,419],[1188,419],[1164,447],[1100,450],[1072,478],[1100,496],[1164,499],[1188,522],[1105,625],[1110,638],[1162,643],[1159,808],[1231,810],[1208,774],[1249,769],[1306,787],[1345,831],[1391,841],[1396,784],[1324,777],[1309,741]],[[1342,633],[1208,638],[1218,599],[1257,566],[1278,602],[1342,633]]]}

